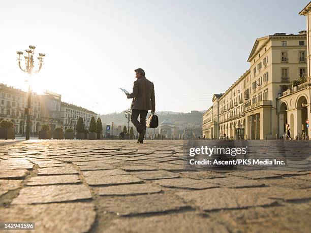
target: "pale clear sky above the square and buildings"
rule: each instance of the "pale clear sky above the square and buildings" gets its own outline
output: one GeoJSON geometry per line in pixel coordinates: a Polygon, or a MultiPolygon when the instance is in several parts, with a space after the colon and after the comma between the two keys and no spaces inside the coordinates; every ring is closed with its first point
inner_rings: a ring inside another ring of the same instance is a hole
{"type": "MultiPolygon", "coordinates": [[[[155,110],[207,110],[247,69],[256,38],[306,29],[304,0],[1,1],[0,83],[27,90],[16,51],[45,53],[34,92],[98,114],[131,100],[134,70],[154,83],[155,110]]],[[[24,62],[22,62],[24,64],[24,62]]]]}

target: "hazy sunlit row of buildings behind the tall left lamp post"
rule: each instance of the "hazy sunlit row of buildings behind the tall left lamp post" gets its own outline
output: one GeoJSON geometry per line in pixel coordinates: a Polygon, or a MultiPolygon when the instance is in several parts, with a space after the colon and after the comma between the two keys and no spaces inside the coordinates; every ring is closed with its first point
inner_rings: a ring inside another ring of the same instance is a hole
{"type": "MultiPolygon", "coordinates": [[[[26,115],[28,93],[0,83],[0,119],[8,119],[14,123],[16,134],[26,132],[26,115]]],[[[73,128],[81,116],[86,129],[89,128],[92,116],[97,114],[85,108],[61,102],[61,95],[45,91],[43,95],[32,94],[32,110],[30,116],[30,135],[37,136],[41,125],[48,124],[54,131],[56,127],[73,128]]]]}

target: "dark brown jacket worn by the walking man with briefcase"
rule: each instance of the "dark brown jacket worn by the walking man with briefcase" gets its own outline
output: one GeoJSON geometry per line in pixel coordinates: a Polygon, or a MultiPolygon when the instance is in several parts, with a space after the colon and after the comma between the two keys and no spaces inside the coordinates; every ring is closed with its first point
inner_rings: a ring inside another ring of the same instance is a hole
{"type": "Polygon", "coordinates": [[[155,111],[154,86],[146,77],[134,82],[133,92],[128,94],[133,98],[131,109],[155,111]]]}

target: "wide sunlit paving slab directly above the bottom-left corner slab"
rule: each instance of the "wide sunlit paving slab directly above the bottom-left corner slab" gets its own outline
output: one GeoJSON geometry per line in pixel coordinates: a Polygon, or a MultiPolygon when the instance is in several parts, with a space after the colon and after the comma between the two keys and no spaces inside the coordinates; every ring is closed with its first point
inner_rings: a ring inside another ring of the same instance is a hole
{"type": "Polygon", "coordinates": [[[12,204],[40,204],[53,202],[69,202],[92,198],[85,185],[46,185],[29,186],[21,189],[12,204]]]}

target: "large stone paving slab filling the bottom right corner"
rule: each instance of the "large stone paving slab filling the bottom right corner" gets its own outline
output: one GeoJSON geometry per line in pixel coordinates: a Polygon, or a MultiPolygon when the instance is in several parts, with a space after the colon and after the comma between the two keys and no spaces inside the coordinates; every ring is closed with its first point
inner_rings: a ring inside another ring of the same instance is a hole
{"type": "Polygon", "coordinates": [[[231,232],[297,232],[310,231],[311,206],[297,204],[277,207],[255,207],[210,214],[227,225],[231,232]]]}

